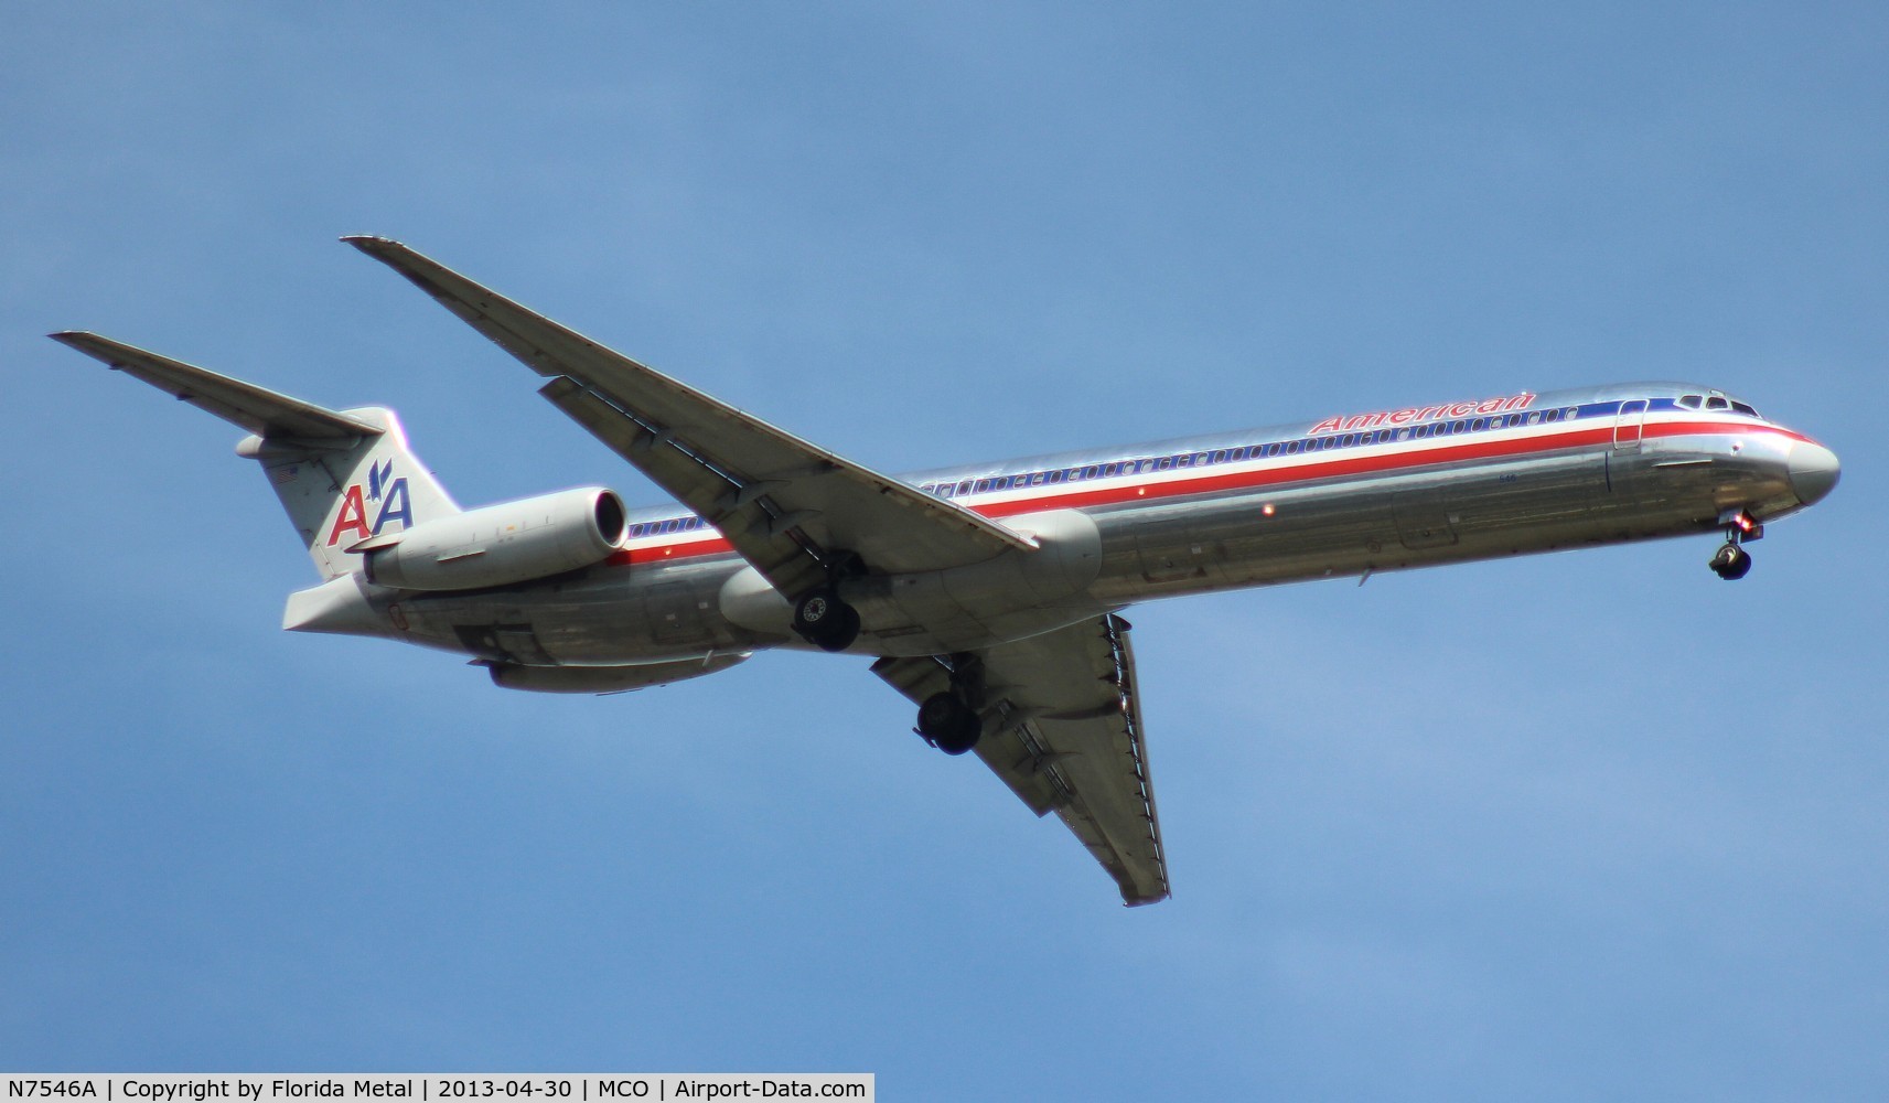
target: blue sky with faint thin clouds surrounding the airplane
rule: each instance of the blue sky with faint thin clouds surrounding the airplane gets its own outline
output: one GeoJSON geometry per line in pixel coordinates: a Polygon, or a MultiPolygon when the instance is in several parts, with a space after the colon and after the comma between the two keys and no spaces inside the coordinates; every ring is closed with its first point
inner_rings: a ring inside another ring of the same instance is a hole
{"type": "Polygon", "coordinates": [[[1889,1092],[1880,6],[21,4],[0,1065],[856,1069],[888,1099],[1889,1092]],[[1130,612],[1124,910],[858,659],[612,699],[291,636],[238,436],[42,334],[659,495],[334,242],[882,470],[1691,378],[1838,491],[1130,612]]]}

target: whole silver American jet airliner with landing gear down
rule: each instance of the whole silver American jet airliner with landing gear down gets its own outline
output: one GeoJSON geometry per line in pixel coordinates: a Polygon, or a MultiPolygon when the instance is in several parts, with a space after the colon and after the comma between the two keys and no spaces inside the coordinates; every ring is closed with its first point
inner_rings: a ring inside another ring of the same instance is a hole
{"type": "Polygon", "coordinates": [[[1056,812],[1128,905],[1167,863],[1130,627],[1154,597],[1723,533],[1711,570],[1836,485],[1836,455],[1691,383],[1345,414],[878,474],[383,238],[344,238],[550,382],[680,506],[582,487],[463,510],[391,410],[325,410],[91,332],[57,340],[249,431],[323,582],[283,627],[461,652],[512,689],[618,693],[763,648],[875,659],[916,731],[1056,812]]]}

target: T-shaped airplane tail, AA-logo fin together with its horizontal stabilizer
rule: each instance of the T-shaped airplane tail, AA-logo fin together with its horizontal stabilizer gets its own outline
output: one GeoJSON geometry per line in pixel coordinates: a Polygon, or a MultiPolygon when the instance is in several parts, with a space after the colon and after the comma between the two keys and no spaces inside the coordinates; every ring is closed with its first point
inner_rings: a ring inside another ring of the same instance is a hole
{"type": "Polygon", "coordinates": [[[247,429],[236,446],[263,465],[321,578],[349,574],[349,550],[459,506],[406,448],[393,410],[327,410],[242,380],[98,336],[55,332],[113,370],[247,429]]]}

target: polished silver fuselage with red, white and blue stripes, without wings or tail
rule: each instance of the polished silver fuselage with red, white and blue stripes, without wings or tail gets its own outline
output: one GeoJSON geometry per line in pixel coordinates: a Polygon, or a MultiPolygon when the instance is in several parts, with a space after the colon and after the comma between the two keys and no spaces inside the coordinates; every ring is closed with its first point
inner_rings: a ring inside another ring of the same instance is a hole
{"type": "MultiPolygon", "coordinates": [[[[918,472],[907,482],[1043,548],[931,574],[875,574],[867,563],[841,585],[863,619],[848,650],[967,652],[1154,597],[1711,533],[1740,512],[1761,523],[1791,514],[1830,480],[1834,457],[1815,442],[1685,383],[918,472]]],[[[712,663],[807,646],[786,599],[676,506],[635,514],[627,550],[586,570],[370,597],[382,635],[525,667],[712,663]]]]}

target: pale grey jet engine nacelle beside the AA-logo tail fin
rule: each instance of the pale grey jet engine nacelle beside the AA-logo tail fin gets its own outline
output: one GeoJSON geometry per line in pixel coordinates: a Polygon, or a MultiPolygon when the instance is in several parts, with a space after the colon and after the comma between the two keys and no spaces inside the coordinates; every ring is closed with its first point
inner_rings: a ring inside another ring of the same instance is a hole
{"type": "Polygon", "coordinates": [[[351,552],[378,585],[478,589],[601,563],[623,536],[623,499],[580,487],[434,518],[351,552]]]}

